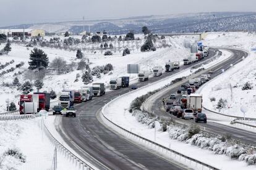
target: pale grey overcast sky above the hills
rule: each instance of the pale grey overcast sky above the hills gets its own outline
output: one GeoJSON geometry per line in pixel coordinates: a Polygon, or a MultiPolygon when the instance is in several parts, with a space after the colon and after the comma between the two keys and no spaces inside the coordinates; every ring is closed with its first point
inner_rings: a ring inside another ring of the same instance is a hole
{"type": "Polygon", "coordinates": [[[251,11],[255,0],[1,0],[0,26],[190,12],[251,11]]]}

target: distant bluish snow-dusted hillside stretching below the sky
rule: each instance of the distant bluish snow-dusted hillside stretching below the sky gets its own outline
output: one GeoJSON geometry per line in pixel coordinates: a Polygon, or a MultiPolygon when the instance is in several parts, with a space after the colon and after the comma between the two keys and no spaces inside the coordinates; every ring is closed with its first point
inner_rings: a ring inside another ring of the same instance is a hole
{"type": "Polygon", "coordinates": [[[179,33],[202,31],[255,31],[256,12],[210,12],[179,15],[150,15],[115,20],[90,20],[59,23],[36,23],[5,28],[38,28],[49,32],[61,33],[71,31],[81,33],[106,30],[110,34],[124,34],[127,31],[140,33],[141,27],[147,25],[154,33],[179,33]]]}

